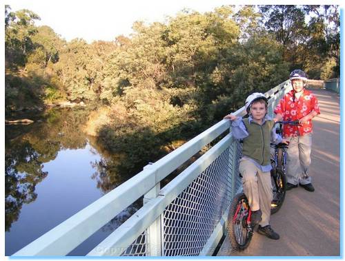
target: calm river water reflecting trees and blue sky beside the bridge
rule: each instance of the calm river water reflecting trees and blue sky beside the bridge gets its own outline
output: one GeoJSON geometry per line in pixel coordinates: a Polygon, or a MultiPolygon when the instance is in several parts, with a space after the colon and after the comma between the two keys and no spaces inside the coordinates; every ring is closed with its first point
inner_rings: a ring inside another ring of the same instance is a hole
{"type": "MultiPolygon", "coordinates": [[[[12,255],[132,175],[119,156],[83,133],[86,109],[50,109],[30,125],[6,125],[6,255],[12,255]]],[[[6,116],[6,118],[10,118],[6,116]]],[[[85,255],[139,207],[128,207],[70,255],[85,255]]]]}

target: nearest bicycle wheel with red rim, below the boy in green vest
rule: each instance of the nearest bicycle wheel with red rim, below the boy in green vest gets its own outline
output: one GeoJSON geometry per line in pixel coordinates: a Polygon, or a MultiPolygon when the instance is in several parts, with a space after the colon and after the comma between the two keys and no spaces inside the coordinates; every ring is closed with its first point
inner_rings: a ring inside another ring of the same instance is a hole
{"type": "Polygon", "coordinates": [[[228,215],[228,237],[233,250],[243,251],[253,236],[253,227],[248,224],[249,203],[244,193],[237,194],[230,205],[228,215]],[[237,211],[237,209],[239,209],[237,211]],[[236,218],[234,216],[236,215],[236,218]]]}

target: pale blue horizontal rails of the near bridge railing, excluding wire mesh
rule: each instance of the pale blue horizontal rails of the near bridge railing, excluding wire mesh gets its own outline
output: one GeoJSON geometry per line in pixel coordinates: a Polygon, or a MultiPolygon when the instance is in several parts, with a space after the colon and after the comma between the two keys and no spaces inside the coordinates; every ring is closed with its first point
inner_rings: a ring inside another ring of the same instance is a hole
{"type": "MultiPolygon", "coordinates": [[[[288,90],[288,88],[286,88],[288,86],[290,85],[288,81],[286,81],[266,92],[265,95],[270,98],[268,109],[270,114],[273,114],[273,106],[279,101],[282,94],[288,90]]],[[[235,112],[237,116],[244,116],[245,114],[244,107],[235,112]]],[[[117,216],[117,214],[126,209],[126,207],[135,202],[135,200],[144,195],[154,195],[151,198],[149,197],[150,200],[146,202],[144,207],[141,207],[141,209],[133,214],[124,224],[111,233],[108,238],[103,240],[95,249],[92,249],[92,251],[88,253],[88,255],[121,255],[121,253],[123,253],[143,231],[155,223],[157,218],[160,218],[166,206],[169,205],[181,191],[186,189],[190,182],[193,182],[201,171],[204,171],[206,167],[213,163],[213,160],[215,160],[221,152],[224,152],[224,150],[233,143],[231,133],[209,149],[208,152],[187,169],[182,171],[181,174],[168,183],[166,187],[159,189],[159,182],[177,169],[177,167],[189,160],[190,157],[199,152],[205,145],[208,145],[219,135],[226,132],[229,127],[229,121],[222,120],[209,129],[206,129],[206,131],[192,140],[189,140],[156,163],[144,168],[143,171],[130,178],[130,180],[127,180],[119,187],[99,198],[99,200],[96,200],[85,209],[82,209],[71,218],[68,218],[68,220],[62,222],[40,238],[37,238],[37,240],[34,240],[23,249],[17,251],[14,255],[66,255],[103,225],[112,220],[112,218],[117,216]]],[[[218,232],[210,236],[210,240],[204,246],[202,253],[209,253],[210,251],[208,249],[214,246],[215,242],[219,239],[219,233],[224,230],[224,225],[226,225],[224,218],[222,218],[219,224],[220,223],[222,223],[221,227],[223,227],[223,229],[217,226],[215,231],[218,232]]],[[[159,220],[157,224],[159,225],[159,220]]],[[[157,253],[157,255],[160,254],[161,251],[157,253]]]]}

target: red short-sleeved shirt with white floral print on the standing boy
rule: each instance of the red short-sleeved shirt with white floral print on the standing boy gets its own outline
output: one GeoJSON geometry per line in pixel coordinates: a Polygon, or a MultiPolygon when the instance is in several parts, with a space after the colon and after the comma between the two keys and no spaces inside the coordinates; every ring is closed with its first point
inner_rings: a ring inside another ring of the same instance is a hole
{"type": "MultiPolygon", "coordinates": [[[[275,107],[275,114],[282,114],[283,121],[296,121],[308,115],[312,111],[320,114],[317,98],[308,90],[304,90],[299,98],[294,98],[294,90],[285,94],[275,107]]],[[[284,137],[303,136],[313,132],[313,123],[306,121],[302,125],[284,124],[284,137]]]]}

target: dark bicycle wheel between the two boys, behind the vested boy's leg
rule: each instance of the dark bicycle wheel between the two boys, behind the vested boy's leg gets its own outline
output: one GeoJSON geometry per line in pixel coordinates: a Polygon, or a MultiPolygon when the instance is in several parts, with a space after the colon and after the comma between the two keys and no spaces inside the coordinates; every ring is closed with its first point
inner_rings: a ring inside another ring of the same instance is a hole
{"type": "Polygon", "coordinates": [[[286,196],[286,175],[281,169],[271,171],[273,200],[270,203],[270,213],[274,214],[281,209],[286,196]]]}

